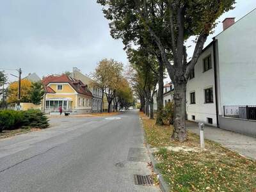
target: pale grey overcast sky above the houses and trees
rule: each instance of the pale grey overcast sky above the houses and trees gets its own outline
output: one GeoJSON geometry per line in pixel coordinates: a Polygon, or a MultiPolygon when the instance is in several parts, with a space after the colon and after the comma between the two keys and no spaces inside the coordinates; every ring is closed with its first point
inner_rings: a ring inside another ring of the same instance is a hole
{"type": "MultiPolygon", "coordinates": [[[[20,67],[23,77],[32,72],[42,77],[71,71],[72,67],[90,74],[102,58],[126,64],[124,46],[109,35],[108,20],[95,2],[0,0],[0,68],[20,67]]],[[[225,17],[240,19],[253,8],[255,0],[237,0],[236,9],[222,15],[220,21],[225,17]]],[[[214,36],[221,30],[219,24],[214,36]]],[[[12,80],[15,77],[10,77],[12,80]]]]}

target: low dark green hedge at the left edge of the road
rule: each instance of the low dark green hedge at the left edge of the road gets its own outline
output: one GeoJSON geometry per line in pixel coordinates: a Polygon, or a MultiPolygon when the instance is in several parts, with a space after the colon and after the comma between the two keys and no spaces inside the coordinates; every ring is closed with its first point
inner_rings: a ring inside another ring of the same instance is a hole
{"type": "Polygon", "coordinates": [[[28,111],[3,110],[0,111],[0,132],[18,129],[22,126],[44,129],[49,127],[47,116],[38,109],[28,111]]]}

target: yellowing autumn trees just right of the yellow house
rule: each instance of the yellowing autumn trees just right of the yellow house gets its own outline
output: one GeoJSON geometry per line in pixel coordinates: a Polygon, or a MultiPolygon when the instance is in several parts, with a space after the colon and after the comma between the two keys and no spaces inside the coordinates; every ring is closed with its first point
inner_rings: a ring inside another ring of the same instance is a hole
{"type": "Polygon", "coordinates": [[[124,66],[122,63],[104,59],[100,61],[92,74],[93,87],[97,87],[102,91],[101,109],[104,106],[104,94],[108,100],[108,113],[113,104],[113,111],[132,105],[132,90],[128,81],[124,77],[124,66]]]}

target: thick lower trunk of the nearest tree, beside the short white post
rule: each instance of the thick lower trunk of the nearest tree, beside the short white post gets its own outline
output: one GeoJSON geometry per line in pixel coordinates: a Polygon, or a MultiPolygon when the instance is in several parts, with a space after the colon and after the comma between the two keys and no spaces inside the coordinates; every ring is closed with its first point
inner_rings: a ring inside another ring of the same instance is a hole
{"type": "Polygon", "coordinates": [[[174,129],[172,140],[187,140],[186,131],[186,81],[179,82],[174,90],[174,129]]]}

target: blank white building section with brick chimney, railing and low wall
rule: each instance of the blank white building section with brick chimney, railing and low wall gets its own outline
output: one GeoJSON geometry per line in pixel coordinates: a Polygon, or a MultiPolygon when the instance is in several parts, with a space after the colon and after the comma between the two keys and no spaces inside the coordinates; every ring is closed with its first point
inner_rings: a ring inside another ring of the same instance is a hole
{"type": "Polygon", "coordinates": [[[215,37],[220,127],[256,136],[256,9],[215,37]]]}

